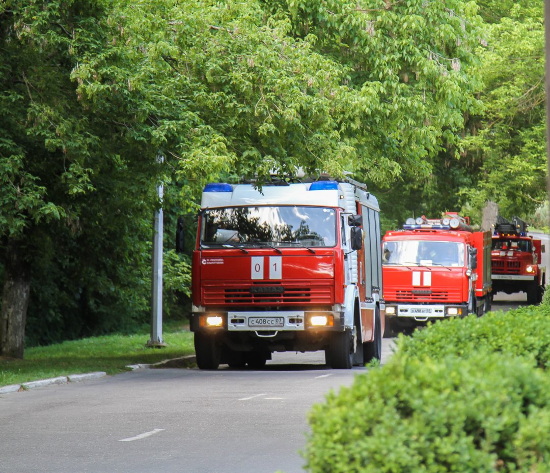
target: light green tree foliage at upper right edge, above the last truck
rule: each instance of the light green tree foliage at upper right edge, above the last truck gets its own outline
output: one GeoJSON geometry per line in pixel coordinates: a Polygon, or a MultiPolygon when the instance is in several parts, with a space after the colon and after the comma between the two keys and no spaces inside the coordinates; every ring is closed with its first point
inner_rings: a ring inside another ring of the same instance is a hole
{"type": "MultiPolygon", "coordinates": [[[[494,2],[480,3],[488,11],[494,2]]],[[[527,215],[547,198],[543,4],[511,3],[495,10],[502,18],[487,26],[478,52],[485,110],[472,118],[465,154],[480,165],[476,188],[461,195],[477,212],[492,200],[503,215],[527,215]]]]}

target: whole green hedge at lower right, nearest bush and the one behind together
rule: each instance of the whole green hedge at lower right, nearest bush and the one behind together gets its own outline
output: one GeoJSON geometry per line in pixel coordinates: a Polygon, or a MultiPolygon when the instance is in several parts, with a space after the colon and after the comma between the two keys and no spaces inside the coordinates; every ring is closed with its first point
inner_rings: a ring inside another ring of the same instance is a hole
{"type": "Polygon", "coordinates": [[[550,291],[399,336],[387,364],[313,407],[306,470],[550,471],[549,347],[550,291]]]}

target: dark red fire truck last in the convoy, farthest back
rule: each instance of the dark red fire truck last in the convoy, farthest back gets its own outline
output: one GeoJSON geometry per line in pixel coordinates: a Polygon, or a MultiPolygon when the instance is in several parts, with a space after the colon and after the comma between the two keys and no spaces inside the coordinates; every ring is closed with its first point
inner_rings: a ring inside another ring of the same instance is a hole
{"type": "Polygon", "coordinates": [[[546,268],[540,266],[544,245],[527,235],[527,224],[519,217],[512,221],[497,216],[493,232],[493,294],[523,291],[527,303],[542,301],[546,285],[546,268]]]}

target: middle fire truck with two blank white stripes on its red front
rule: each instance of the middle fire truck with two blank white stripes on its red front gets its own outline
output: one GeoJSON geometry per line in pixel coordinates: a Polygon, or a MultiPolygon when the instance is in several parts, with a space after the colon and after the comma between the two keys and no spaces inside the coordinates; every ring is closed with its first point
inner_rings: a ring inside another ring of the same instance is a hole
{"type": "Polygon", "coordinates": [[[392,331],[491,307],[491,232],[454,212],[408,219],[383,238],[383,299],[392,331]]]}

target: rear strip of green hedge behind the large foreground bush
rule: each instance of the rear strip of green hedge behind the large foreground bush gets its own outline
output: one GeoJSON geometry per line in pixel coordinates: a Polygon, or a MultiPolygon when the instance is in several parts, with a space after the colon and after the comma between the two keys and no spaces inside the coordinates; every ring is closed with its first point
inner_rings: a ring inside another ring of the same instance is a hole
{"type": "Polygon", "coordinates": [[[540,368],[550,366],[550,304],[520,307],[437,322],[399,337],[398,349],[415,357],[441,359],[449,354],[469,357],[480,351],[530,357],[540,368]]]}

